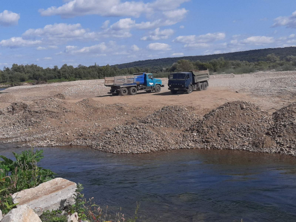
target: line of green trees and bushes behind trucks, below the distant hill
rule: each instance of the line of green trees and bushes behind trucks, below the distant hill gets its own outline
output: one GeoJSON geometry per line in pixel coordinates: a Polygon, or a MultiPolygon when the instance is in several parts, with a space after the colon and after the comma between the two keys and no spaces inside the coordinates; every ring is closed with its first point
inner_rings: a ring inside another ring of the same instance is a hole
{"type": "Polygon", "coordinates": [[[280,58],[275,54],[268,54],[263,61],[248,62],[240,60],[227,60],[223,57],[211,59],[208,62],[190,61],[180,59],[170,66],[159,67],[130,67],[118,68],[117,66],[98,66],[92,65],[86,67],[78,65],[62,65],[58,68],[43,68],[38,65],[17,65],[13,64],[11,68],[4,67],[0,70],[0,83],[18,83],[18,82],[54,82],[54,81],[75,81],[87,79],[100,79],[104,77],[118,75],[132,75],[133,73],[147,72],[154,73],[155,77],[167,77],[171,72],[189,71],[189,70],[206,70],[211,73],[250,73],[260,70],[295,70],[296,56],[289,55],[280,58]]]}

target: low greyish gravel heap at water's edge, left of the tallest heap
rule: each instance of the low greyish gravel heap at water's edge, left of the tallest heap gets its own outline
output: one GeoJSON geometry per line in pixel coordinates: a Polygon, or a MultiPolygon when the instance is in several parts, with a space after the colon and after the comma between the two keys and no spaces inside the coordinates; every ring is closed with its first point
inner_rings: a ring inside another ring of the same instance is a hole
{"type": "Polygon", "coordinates": [[[169,133],[160,128],[149,128],[142,123],[116,126],[98,138],[94,149],[113,153],[150,153],[175,149],[169,133]],[[155,130],[155,131],[154,131],[155,130]]]}

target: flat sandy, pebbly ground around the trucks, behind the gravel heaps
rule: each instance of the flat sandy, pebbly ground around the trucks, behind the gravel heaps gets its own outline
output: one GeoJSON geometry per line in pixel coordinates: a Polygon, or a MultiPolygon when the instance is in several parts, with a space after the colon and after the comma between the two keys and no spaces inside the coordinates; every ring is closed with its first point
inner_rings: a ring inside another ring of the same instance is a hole
{"type": "Polygon", "coordinates": [[[250,101],[268,112],[296,101],[296,72],[264,71],[242,75],[211,75],[207,91],[195,91],[192,94],[170,94],[168,80],[162,78],[160,93],[139,92],[135,96],[110,96],[110,88],[104,86],[104,80],[86,80],[47,85],[16,86],[0,94],[0,108],[12,102],[30,102],[54,96],[58,93],[66,96],[67,102],[78,102],[92,98],[100,103],[127,103],[133,106],[149,106],[155,110],[165,105],[193,105],[205,114],[207,111],[229,101],[250,101]]]}

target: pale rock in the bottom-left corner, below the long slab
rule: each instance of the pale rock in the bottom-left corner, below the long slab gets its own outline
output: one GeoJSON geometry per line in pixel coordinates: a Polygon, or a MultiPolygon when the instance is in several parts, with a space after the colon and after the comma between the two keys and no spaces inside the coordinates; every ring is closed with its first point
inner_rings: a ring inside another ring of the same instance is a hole
{"type": "Polygon", "coordinates": [[[1,222],[41,222],[38,215],[26,204],[9,211],[1,222]]]}

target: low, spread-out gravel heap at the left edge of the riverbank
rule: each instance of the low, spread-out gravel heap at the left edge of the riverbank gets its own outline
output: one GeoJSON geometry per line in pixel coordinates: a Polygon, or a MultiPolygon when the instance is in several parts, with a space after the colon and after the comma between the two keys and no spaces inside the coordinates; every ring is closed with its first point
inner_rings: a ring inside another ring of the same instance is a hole
{"type": "Polygon", "coordinates": [[[0,138],[20,137],[8,142],[28,141],[42,137],[41,134],[49,129],[54,131],[54,128],[46,124],[46,120],[58,119],[70,112],[62,105],[63,102],[52,97],[29,104],[23,102],[10,104],[0,110],[0,138]]]}

